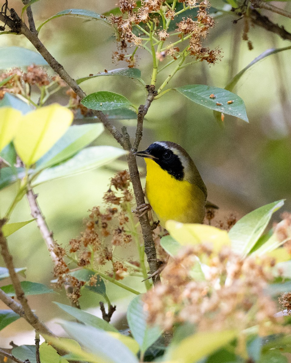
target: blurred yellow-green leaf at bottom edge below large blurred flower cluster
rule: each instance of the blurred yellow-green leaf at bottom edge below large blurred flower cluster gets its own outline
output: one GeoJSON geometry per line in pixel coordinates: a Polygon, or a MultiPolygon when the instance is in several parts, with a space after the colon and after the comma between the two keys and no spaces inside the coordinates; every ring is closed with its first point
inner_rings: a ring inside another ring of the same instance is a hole
{"type": "MultiPolygon", "coordinates": [[[[170,351],[170,358],[181,363],[195,363],[225,346],[237,335],[234,330],[209,331],[188,337],[170,351]]],[[[171,345],[170,345],[171,347],[171,345]]]]}

